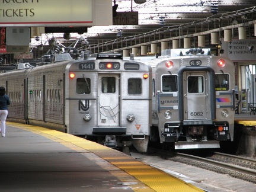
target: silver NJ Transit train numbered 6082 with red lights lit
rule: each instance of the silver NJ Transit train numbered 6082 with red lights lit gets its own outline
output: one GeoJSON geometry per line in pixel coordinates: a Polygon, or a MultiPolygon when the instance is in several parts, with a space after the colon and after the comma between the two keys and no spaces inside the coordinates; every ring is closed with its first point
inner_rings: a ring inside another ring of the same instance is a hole
{"type": "Polygon", "coordinates": [[[210,49],[164,50],[152,66],[151,139],[168,148],[220,148],[233,141],[235,66],[210,49]]]}

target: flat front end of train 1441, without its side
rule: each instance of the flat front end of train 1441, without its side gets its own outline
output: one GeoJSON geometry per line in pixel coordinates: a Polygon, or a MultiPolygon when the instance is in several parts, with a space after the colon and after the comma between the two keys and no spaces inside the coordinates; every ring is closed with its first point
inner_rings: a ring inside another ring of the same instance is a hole
{"type": "Polygon", "coordinates": [[[66,70],[68,133],[111,148],[148,147],[151,67],[101,53],[66,70]]]}

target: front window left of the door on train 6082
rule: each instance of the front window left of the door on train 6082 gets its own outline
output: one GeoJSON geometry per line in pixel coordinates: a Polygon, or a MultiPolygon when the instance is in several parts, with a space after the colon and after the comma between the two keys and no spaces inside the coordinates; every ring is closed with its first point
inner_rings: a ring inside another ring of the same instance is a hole
{"type": "Polygon", "coordinates": [[[177,75],[163,75],[162,76],[162,92],[176,92],[178,91],[177,75]]]}

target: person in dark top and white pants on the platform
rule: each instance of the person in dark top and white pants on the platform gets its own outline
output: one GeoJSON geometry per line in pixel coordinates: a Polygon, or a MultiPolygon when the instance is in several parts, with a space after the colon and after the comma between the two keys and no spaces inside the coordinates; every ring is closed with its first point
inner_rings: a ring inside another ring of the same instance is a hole
{"type": "Polygon", "coordinates": [[[5,120],[8,115],[8,105],[11,104],[9,97],[5,94],[5,88],[0,87],[0,132],[2,137],[5,137],[5,120]]]}

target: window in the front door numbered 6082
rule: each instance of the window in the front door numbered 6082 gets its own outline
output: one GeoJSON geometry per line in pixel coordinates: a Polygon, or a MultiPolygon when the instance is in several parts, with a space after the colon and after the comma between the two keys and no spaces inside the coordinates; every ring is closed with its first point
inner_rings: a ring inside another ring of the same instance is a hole
{"type": "Polygon", "coordinates": [[[188,84],[188,92],[189,93],[204,92],[203,76],[188,76],[187,84],[188,84]]]}

